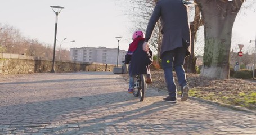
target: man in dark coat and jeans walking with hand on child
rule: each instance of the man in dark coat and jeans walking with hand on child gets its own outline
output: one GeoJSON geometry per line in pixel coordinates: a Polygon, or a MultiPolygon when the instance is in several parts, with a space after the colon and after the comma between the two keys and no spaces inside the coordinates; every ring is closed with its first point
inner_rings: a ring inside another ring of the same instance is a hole
{"type": "Polygon", "coordinates": [[[188,98],[188,82],[183,68],[185,57],[190,55],[190,27],[188,24],[188,7],[182,0],[159,0],[147,25],[143,50],[149,50],[147,43],[152,35],[156,22],[161,18],[163,34],[160,58],[164,70],[165,82],[169,96],[164,101],[177,102],[177,88],[173,78],[176,71],[181,86],[181,101],[188,98]]]}

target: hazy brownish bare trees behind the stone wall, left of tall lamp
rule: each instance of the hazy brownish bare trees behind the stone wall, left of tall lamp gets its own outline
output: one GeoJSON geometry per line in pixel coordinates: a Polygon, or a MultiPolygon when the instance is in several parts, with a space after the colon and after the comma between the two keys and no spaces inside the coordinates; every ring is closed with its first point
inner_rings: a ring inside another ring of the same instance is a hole
{"type": "MultiPolygon", "coordinates": [[[[53,55],[50,44],[41,43],[37,39],[25,38],[21,35],[19,29],[7,24],[0,24],[0,52],[48,58],[53,55]]],[[[62,60],[70,60],[69,55],[65,54],[65,56],[62,60]]]]}

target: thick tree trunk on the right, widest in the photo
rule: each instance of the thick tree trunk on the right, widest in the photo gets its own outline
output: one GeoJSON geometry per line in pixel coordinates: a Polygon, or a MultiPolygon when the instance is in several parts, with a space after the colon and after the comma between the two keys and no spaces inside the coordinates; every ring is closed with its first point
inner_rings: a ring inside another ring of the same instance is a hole
{"type": "Polygon", "coordinates": [[[197,0],[204,20],[202,76],[229,78],[232,27],[243,2],[197,0]]]}

